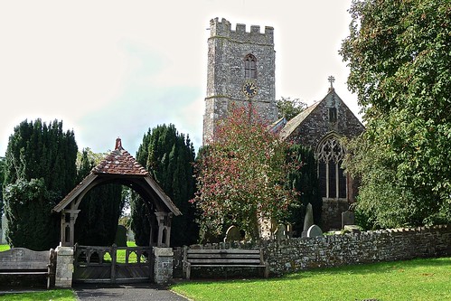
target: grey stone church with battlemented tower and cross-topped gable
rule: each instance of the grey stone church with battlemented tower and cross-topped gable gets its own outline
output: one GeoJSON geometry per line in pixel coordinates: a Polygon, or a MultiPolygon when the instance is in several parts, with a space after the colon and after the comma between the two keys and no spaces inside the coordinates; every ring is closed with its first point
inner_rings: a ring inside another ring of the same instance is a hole
{"type": "Polygon", "coordinates": [[[277,120],[274,28],[237,24],[218,18],[210,22],[208,39],[207,95],[203,116],[203,144],[214,137],[214,125],[225,118],[230,104],[250,102],[258,116],[277,125],[284,140],[310,146],[315,151],[318,180],[323,197],[323,228],[340,229],[341,214],[354,202],[352,179],[343,173],[343,136],[362,133],[364,127],[343,99],[331,88],[324,99],[291,120],[277,120]]]}

